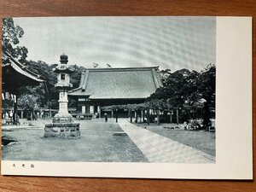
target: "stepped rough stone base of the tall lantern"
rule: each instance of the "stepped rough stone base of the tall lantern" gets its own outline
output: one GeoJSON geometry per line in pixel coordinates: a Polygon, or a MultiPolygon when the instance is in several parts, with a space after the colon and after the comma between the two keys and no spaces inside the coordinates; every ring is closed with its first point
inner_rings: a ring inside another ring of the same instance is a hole
{"type": "Polygon", "coordinates": [[[70,117],[56,117],[51,124],[44,127],[44,137],[79,138],[79,123],[74,123],[70,117]]]}

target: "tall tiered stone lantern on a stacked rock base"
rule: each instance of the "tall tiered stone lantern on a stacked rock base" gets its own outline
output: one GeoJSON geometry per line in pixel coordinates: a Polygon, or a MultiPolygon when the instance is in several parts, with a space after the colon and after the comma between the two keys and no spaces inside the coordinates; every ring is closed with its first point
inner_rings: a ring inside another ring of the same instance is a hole
{"type": "Polygon", "coordinates": [[[73,73],[73,67],[67,65],[67,55],[61,55],[61,64],[53,69],[57,73],[57,83],[55,89],[59,90],[59,111],[52,119],[52,124],[46,124],[44,128],[44,137],[79,137],[79,123],[73,122],[73,117],[67,110],[67,90],[72,89],[70,84],[70,75],[73,73]]]}

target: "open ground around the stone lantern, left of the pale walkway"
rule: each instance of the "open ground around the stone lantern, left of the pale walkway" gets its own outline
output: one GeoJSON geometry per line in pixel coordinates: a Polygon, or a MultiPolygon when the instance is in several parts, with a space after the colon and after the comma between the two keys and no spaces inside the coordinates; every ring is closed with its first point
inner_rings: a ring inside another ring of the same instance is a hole
{"type": "Polygon", "coordinates": [[[80,122],[80,139],[44,138],[44,127],[3,131],[17,143],[2,149],[3,160],[147,162],[127,136],[113,136],[122,129],[116,123],[80,122]]]}

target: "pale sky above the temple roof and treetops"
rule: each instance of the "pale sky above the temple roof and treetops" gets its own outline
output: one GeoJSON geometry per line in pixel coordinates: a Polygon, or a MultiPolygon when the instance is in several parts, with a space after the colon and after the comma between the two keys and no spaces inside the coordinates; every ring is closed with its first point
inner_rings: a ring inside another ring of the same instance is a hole
{"type": "Polygon", "coordinates": [[[201,71],[216,60],[215,17],[14,18],[27,60],[83,67],[154,67],[201,71]]]}

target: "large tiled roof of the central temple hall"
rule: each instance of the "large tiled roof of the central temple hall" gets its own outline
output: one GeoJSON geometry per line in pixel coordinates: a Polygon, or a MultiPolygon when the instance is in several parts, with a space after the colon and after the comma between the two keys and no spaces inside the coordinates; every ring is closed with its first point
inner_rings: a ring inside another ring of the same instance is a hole
{"type": "Polygon", "coordinates": [[[69,96],[90,99],[138,99],[162,86],[158,67],[89,68],[81,75],[79,88],[69,96]]]}

